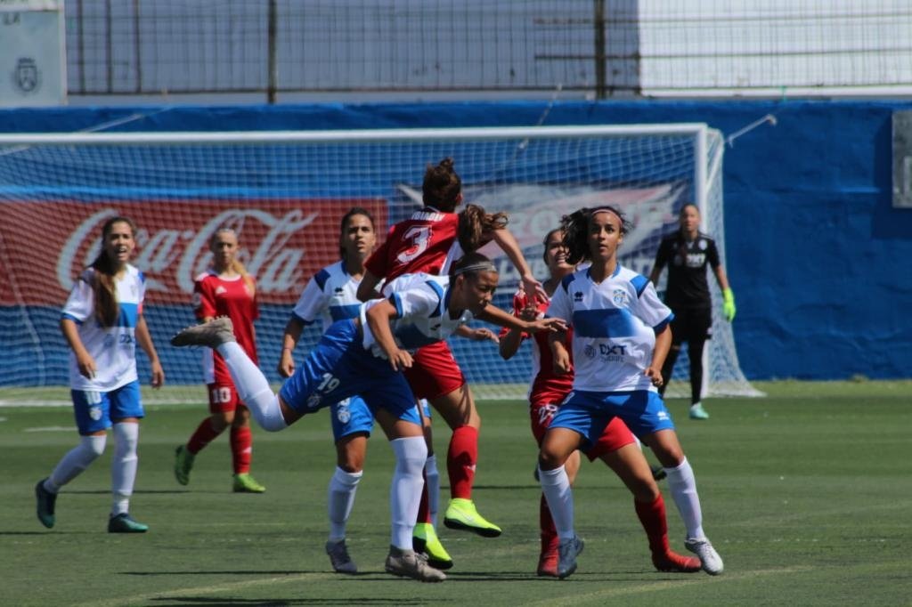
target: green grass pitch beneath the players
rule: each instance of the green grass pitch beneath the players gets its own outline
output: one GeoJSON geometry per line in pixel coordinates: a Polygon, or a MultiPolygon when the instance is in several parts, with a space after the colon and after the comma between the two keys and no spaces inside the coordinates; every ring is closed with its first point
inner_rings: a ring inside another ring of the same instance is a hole
{"type": "MultiPolygon", "coordinates": [[[[653,571],[627,489],[601,464],[575,489],[579,569],[535,577],[534,442],[520,402],[482,402],[475,501],[498,539],[443,529],[456,566],[442,584],[383,572],[392,458],[376,436],[349,522],[357,576],[323,552],[335,455],[325,414],[277,434],[254,430],[264,495],[233,494],[227,440],[196,460],[189,487],[171,471],[176,445],[205,415],[148,406],[131,513],[144,535],[109,535],[108,451],[57,499],[57,526],[35,517],[33,487],[76,444],[68,407],[0,407],[3,605],[907,605],[912,604],[912,382],[759,386],[758,399],[710,399],[708,422],[669,401],[696,471],[705,529],[725,573],[653,571]]],[[[0,401],[16,395],[0,392],[0,401]]],[[[449,432],[438,427],[445,452],[449,432]]],[[[441,480],[446,485],[445,467],[441,480]]],[[[675,548],[683,527],[668,503],[675,548]]],[[[445,506],[448,492],[441,492],[445,506]]]]}

